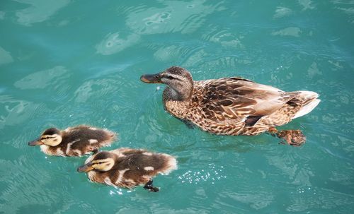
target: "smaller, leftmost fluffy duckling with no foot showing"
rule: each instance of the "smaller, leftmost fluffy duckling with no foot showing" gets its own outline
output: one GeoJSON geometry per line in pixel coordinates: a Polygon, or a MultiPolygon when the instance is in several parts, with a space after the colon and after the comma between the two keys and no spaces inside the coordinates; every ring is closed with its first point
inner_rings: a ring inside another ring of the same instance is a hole
{"type": "Polygon", "coordinates": [[[110,145],[115,141],[116,135],[107,129],[85,125],[69,127],[63,131],[50,128],[28,145],[40,145],[42,152],[47,155],[81,156],[110,145]]]}

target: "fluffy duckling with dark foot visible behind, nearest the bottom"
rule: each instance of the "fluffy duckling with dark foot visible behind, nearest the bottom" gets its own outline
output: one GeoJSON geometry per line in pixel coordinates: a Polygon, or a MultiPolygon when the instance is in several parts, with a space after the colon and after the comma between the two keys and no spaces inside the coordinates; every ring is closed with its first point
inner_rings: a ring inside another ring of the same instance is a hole
{"type": "Polygon", "coordinates": [[[127,189],[144,185],[144,189],[156,192],[159,188],[152,185],[152,178],[176,169],[176,158],[171,155],[118,148],[94,153],[77,171],[87,172],[91,182],[127,189]]]}

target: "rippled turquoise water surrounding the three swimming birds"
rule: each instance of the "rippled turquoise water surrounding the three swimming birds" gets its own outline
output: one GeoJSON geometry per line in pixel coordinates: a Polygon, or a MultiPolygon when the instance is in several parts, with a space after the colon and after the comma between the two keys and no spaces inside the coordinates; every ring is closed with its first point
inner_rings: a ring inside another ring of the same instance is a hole
{"type": "Polygon", "coordinates": [[[3,0],[0,30],[0,213],[352,212],[354,1],[3,0]],[[188,129],[164,112],[163,85],[139,81],[172,65],[316,91],[320,105],[282,127],[307,143],[188,129]],[[114,189],[76,172],[86,157],[27,145],[77,124],[179,168],[156,194],[114,189]]]}

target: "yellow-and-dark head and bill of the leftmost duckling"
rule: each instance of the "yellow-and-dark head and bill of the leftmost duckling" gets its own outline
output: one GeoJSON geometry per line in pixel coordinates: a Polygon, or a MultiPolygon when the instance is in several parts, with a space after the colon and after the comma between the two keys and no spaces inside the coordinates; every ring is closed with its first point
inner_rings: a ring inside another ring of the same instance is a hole
{"type": "Polygon", "coordinates": [[[55,146],[62,143],[62,132],[57,128],[45,130],[38,139],[28,142],[28,145],[49,145],[55,146]]]}

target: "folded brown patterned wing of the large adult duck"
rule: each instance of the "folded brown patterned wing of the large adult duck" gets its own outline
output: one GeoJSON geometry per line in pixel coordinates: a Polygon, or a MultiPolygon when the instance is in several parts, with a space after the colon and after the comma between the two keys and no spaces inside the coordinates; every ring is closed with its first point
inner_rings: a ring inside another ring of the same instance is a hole
{"type": "Polygon", "coordinates": [[[254,124],[297,95],[239,77],[199,81],[197,85],[203,91],[199,105],[206,117],[214,121],[239,122],[248,119],[246,123],[254,124]]]}

